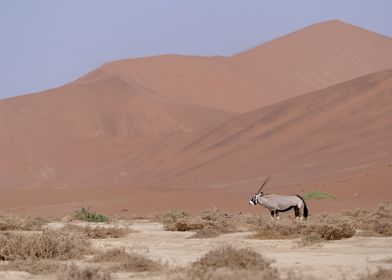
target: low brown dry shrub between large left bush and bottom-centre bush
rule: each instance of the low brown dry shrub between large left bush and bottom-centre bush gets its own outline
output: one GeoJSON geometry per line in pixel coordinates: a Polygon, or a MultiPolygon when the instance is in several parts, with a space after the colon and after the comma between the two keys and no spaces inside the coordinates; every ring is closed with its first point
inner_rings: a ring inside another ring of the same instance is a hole
{"type": "Polygon", "coordinates": [[[98,253],[92,261],[112,263],[112,271],[158,271],[164,267],[160,262],[151,260],[140,254],[128,254],[124,249],[111,249],[98,253]]]}

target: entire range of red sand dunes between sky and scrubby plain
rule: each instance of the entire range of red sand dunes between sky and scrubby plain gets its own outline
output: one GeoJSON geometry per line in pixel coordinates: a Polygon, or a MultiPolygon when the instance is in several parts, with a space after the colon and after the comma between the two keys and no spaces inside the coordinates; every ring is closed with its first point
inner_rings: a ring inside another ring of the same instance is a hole
{"type": "Polygon", "coordinates": [[[392,70],[365,75],[392,68],[391,50],[332,21],[228,58],[117,61],[1,100],[0,208],[248,211],[266,175],[269,191],[337,197],[316,211],[392,199],[392,70]]]}

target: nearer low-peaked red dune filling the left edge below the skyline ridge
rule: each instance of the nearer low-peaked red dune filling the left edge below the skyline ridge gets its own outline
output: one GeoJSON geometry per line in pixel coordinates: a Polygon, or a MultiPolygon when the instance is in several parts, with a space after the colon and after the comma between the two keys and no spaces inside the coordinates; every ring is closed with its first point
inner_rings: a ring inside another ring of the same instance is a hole
{"type": "Polygon", "coordinates": [[[137,165],[139,157],[231,115],[169,101],[108,73],[3,100],[0,188],[84,185],[108,166],[137,165]]]}

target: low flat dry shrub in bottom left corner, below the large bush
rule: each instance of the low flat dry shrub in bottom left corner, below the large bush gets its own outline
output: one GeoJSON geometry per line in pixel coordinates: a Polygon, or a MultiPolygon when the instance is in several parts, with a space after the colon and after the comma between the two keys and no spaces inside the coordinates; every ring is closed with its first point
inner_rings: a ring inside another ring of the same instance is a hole
{"type": "Polygon", "coordinates": [[[51,274],[60,271],[61,264],[52,260],[23,260],[0,265],[3,271],[25,271],[31,274],[51,274]]]}

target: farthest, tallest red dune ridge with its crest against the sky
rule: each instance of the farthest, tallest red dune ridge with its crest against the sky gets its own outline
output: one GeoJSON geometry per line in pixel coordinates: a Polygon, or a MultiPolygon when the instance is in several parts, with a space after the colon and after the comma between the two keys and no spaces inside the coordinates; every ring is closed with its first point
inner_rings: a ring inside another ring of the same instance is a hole
{"type": "Polygon", "coordinates": [[[389,37],[329,21],[232,57],[163,55],[116,61],[98,71],[171,99],[247,112],[391,68],[391,49],[389,37]]]}

